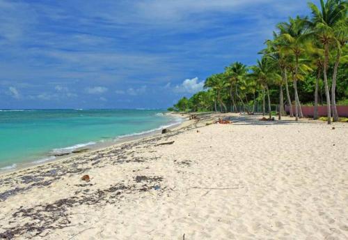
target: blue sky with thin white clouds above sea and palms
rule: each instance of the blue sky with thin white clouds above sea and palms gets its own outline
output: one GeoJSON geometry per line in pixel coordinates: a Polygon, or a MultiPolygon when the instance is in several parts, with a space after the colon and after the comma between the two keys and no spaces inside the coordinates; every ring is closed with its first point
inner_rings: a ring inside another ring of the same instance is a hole
{"type": "Polygon", "coordinates": [[[0,109],[170,107],[309,14],[305,0],[0,0],[0,109]]]}

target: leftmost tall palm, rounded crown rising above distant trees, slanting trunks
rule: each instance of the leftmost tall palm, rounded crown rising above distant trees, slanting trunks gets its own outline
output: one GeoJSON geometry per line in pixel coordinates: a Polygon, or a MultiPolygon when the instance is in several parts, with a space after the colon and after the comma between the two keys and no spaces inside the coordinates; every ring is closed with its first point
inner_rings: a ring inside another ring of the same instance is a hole
{"type": "Polygon", "coordinates": [[[230,66],[225,68],[225,74],[226,74],[226,77],[228,78],[228,82],[230,85],[230,96],[232,99],[232,104],[235,106],[235,102],[233,100],[233,95],[232,95],[232,87],[235,87],[236,96],[237,98],[239,98],[240,102],[242,103],[244,110],[246,106],[238,90],[240,89],[241,85],[246,84],[244,82],[246,70],[247,70],[246,66],[243,63],[239,63],[239,62],[232,63],[230,66]]]}

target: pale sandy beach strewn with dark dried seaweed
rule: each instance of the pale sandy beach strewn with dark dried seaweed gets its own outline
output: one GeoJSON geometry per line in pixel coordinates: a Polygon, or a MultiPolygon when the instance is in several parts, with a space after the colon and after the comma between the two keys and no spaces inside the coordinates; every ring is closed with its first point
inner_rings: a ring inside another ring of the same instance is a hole
{"type": "Polygon", "coordinates": [[[348,239],[348,123],[198,118],[1,174],[0,238],[348,239]]]}

